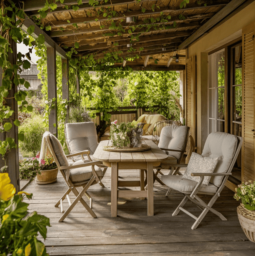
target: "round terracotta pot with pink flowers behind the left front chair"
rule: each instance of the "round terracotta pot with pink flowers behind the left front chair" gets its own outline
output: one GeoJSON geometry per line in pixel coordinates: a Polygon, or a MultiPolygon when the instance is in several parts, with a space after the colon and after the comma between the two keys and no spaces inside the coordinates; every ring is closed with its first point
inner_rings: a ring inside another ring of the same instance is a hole
{"type": "Polygon", "coordinates": [[[58,168],[52,157],[41,159],[40,174],[36,175],[37,184],[51,184],[57,181],[58,168]]]}

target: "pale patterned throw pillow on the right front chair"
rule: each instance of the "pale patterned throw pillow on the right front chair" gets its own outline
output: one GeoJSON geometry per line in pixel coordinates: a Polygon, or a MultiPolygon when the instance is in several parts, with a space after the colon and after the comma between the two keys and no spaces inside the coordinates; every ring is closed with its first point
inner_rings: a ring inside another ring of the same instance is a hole
{"type": "MultiPolygon", "coordinates": [[[[213,173],[218,160],[219,160],[218,157],[217,158],[203,157],[193,152],[191,154],[187,169],[183,174],[183,178],[199,182],[200,177],[191,176],[191,173],[194,173],[194,172],[213,173]]],[[[204,176],[204,180],[202,184],[207,186],[210,179],[211,179],[211,176],[204,176]]]]}

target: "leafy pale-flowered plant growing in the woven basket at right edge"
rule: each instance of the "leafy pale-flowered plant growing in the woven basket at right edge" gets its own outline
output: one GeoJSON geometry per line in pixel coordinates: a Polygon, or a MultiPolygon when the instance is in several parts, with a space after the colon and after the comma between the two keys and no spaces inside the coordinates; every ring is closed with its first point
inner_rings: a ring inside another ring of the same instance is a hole
{"type": "Polygon", "coordinates": [[[255,181],[243,182],[235,189],[234,198],[241,199],[246,209],[255,211],[255,181]]]}

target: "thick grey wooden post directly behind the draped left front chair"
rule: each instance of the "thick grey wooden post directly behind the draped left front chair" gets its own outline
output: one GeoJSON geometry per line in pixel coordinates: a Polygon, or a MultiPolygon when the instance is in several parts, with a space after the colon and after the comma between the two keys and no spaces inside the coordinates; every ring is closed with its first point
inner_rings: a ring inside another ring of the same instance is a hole
{"type": "Polygon", "coordinates": [[[56,98],[49,114],[49,131],[57,137],[56,48],[47,47],[48,99],[56,98]]]}

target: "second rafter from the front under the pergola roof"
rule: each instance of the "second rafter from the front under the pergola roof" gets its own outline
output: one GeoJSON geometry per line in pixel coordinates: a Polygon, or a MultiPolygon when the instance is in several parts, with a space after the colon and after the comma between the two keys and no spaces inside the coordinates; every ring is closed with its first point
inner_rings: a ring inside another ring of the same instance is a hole
{"type": "MultiPolygon", "coordinates": [[[[172,16],[179,16],[180,14],[185,15],[185,12],[188,12],[190,10],[194,10],[194,9],[209,9],[211,7],[221,7],[221,6],[225,6],[225,4],[220,4],[220,5],[213,5],[213,6],[197,6],[197,5],[189,5],[189,8],[185,8],[185,9],[172,9],[172,8],[167,8],[167,7],[160,7],[160,9],[157,9],[157,11],[152,11],[152,10],[146,10],[145,12],[141,12],[140,10],[134,10],[134,11],[124,11],[124,12],[120,12],[119,16],[115,16],[112,18],[108,18],[107,16],[104,17],[103,14],[97,16],[92,17],[82,17],[82,18],[75,18],[75,19],[69,19],[69,22],[67,20],[63,20],[63,21],[50,21],[47,25],[50,26],[54,26],[54,27],[61,27],[61,26],[67,26],[70,25],[72,23],[89,23],[92,22],[96,19],[98,19],[98,21],[109,21],[109,20],[118,20],[118,19],[125,19],[126,17],[136,17],[136,16],[148,16],[148,15],[154,15],[154,14],[161,14],[161,13],[172,13],[172,16]],[[173,13],[175,15],[173,15],[173,13]]],[[[204,10],[203,10],[204,11],[204,10]]]]}

